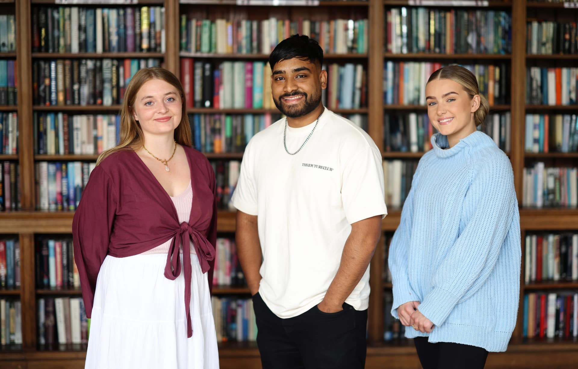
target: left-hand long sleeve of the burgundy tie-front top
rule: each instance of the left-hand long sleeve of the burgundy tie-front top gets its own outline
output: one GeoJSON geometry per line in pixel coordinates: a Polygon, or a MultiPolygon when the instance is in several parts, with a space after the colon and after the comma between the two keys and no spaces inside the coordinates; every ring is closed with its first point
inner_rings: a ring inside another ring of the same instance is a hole
{"type": "Polygon", "coordinates": [[[117,200],[112,179],[100,166],[95,167],[72,222],[74,259],[87,318],[92,315],[98,272],[108,254],[117,200]]]}

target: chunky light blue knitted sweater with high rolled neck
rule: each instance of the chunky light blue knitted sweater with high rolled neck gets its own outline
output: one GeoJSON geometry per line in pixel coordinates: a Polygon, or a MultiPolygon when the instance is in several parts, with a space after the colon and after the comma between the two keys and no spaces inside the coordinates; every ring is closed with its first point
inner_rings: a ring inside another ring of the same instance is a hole
{"type": "Polygon", "coordinates": [[[520,298],[520,214],[512,165],[485,133],[452,148],[432,136],[391,240],[394,303],[408,301],[435,327],[405,337],[506,351],[520,298]],[[447,148],[444,150],[444,148],[447,148]]]}

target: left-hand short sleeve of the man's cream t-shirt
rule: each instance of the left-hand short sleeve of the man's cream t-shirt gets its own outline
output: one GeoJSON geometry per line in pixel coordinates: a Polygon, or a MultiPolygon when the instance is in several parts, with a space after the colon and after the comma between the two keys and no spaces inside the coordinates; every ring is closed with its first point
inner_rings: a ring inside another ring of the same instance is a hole
{"type": "Polygon", "coordinates": [[[233,192],[233,206],[249,215],[257,215],[257,184],[255,183],[255,172],[253,155],[251,155],[251,142],[243,154],[239,180],[233,192]]]}

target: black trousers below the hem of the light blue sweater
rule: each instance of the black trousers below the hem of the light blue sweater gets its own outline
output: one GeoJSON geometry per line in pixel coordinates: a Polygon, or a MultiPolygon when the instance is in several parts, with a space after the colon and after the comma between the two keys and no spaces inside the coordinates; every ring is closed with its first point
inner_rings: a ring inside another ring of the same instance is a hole
{"type": "Polygon", "coordinates": [[[416,337],[417,356],[424,369],[483,369],[488,352],[476,346],[438,342],[432,344],[427,337],[416,337]]]}

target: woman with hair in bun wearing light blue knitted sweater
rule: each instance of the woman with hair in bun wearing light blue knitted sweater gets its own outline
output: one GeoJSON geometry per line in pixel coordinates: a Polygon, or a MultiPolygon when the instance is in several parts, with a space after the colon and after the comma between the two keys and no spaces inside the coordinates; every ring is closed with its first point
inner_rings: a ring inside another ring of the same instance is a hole
{"type": "Polygon", "coordinates": [[[476,126],[488,114],[476,77],[436,70],[425,86],[438,130],[420,159],[392,238],[391,310],[425,369],[483,368],[506,351],[520,291],[520,216],[512,165],[476,126]]]}

